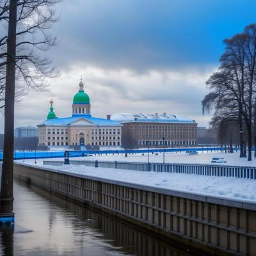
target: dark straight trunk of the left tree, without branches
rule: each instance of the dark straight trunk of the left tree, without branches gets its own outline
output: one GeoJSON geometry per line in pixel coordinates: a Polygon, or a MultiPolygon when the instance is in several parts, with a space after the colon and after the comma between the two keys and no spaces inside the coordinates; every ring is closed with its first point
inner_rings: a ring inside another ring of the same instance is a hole
{"type": "Polygon", "coordinates": [[[15,57],[16,57],[16,25],[17,0],[10,0],[6,90],[4,106],[4,149],[1,178],[0,217],[13,216],[13,128],[15,97],[15,57]]]}

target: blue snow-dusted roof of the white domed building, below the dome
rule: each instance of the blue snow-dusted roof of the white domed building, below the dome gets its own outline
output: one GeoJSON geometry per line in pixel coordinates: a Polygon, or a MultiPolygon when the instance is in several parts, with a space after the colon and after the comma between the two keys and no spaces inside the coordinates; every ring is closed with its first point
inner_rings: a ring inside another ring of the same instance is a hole
{"type": "Polygon", "coordinates": [[[107,120],[104,118],[92,117],[89,115],[76,116],[76,117],[63,117],[46,119],[38,126],[43,125],[108,125],[108,126],[121,126],[119,122],[114,120],[107,120]],[[84,121],[84,122],[83,122],[84,121]],[[86,122],[87,121],[87,122],[86,122]]]}

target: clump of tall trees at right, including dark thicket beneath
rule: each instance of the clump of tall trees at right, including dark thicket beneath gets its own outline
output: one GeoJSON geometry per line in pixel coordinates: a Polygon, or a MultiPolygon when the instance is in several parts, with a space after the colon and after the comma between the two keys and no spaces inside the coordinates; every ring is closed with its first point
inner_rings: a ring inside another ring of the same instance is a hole
{"type": "Polygon", "coordinates": [[[220,67],[206,81],[211,92],[202,100],[202,111],[213,110],[210,124],[218,129],[220,140],[228,141],[230,147],[238,140],[240,157],[246,156],[247,144],[248,161],[252,161],[256,144],[256,24],[223,42],[220,67]]]}

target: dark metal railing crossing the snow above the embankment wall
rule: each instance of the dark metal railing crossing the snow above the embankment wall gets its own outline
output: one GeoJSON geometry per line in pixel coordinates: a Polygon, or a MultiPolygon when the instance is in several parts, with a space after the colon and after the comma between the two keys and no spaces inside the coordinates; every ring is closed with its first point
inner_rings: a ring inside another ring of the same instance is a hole
{"type": "MultiPolygon", "coordinates": [[[[63,161],[44,161],[44,165],[61,166],[63,161]]],[[[70,164],[134,170],[140,172],[168,172],[207,175],[216,177],[236,177],[240,179],[256,179],[256,167],[253,166],[223,166],[213,164],[173,164],[173,163],[129,163],[111,161],[76,161],[70,164]]]]}

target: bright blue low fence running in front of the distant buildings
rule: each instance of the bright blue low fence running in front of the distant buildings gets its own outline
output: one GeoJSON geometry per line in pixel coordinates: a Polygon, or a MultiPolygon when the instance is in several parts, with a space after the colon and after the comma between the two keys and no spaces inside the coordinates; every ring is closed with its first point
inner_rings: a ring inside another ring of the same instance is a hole
{"type": "MultiPolygon", "coordinates": [[[[204,152],[216,152],[225,151],[227,148],[224,147],[198,147],[198,148],[158,148],[158,149],[134,149],[134,150],[68,150],[69,157],[79,157],[84,155],[102,155],[102,154],[148,154],[161,153],[161,152],[186,152],[186,151],[204,151],[204,152]]],[[[238,150],[238,148],[234,148],[238,150]]],[[[15,151],[13,153],[14,159],[42,159],[42,158],[56,158],[65,157],[65,151],[15,151]]],[[[0,152],[0,161],[3,159],[3,152],[0,152]]]]}

